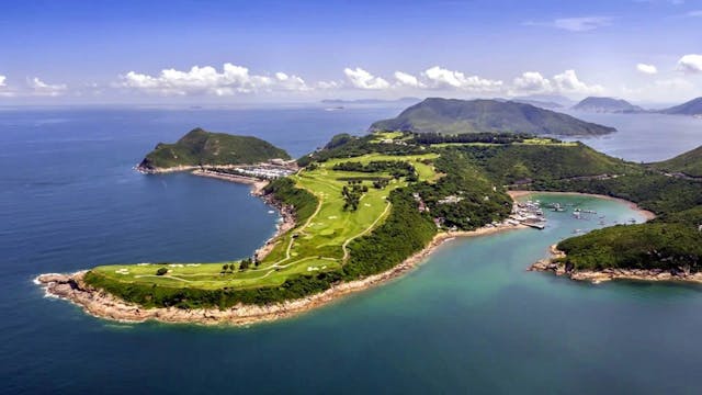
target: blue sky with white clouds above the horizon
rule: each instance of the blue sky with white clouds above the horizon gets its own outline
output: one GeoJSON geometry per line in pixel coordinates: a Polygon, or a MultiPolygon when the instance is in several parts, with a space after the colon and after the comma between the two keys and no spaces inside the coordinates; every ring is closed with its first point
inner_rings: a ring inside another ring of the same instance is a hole
{"type": "Polygon", "coordinates": [[[702,0],[13,1],[0,104],[702,95],[702,0]]]}

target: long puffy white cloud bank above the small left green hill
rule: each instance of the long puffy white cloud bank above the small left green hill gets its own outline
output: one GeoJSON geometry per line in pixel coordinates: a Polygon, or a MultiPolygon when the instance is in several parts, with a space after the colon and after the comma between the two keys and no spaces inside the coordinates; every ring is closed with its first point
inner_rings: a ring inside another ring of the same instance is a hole
{"type": "Polygon", "coordinates": [[[305,91],[309,87],[297,76],[276,72],[274,77],[249,74],[249,69],[224,64],[222,71],[212,66],[193,66],[188,71],[163,69],[158,76],[129,71],[122,76],[121,87],[165,95],[233,95],[256,91],[305,91]]]}

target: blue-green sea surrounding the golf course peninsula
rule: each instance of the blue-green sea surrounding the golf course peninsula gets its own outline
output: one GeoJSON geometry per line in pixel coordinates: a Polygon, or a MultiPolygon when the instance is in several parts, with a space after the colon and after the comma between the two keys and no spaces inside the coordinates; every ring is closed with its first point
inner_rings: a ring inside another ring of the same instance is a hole
{"type": "MultiPolygon", "coordinates": [[[[596,226],[559,213],[543,232],[456,239],[389,284],[245,328],[105,321],[32,283],[103,263],[244,257],[273,233],[276,215],[245,185],[135,172],[158,142],[202,126],[301,156],[400,110],[0,110],[0,393],[702,392],[702,287],[526,272],[548,245],[596,226]]],[[[627,116],[591,144],[643,161],[702,144],[702,121],[627,116]]],[[[642,219],[618,202],[548,199],[642,219]]]]}

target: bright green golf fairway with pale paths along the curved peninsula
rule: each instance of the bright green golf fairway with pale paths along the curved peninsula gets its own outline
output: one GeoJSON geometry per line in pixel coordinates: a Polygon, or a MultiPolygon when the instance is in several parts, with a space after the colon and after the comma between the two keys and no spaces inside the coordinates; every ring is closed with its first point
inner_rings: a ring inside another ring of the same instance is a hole
{"type": "Polygon", "coordinates": [[[390,213],[388,194],[407,183],[387,172],[355,172],[333,170],[342,162],[405,161],[416,170],[419,180],[434,181],[437,173],[432,160],[438,154],[390,156],[370,154],[355,158],[332,159],[319,163],[314,170],[303,169],[290,178],[297,188],[305,189],[317,199],[313,215],[282,235],[272,251],[258,267],[240,270],[240,261],[218,263],[140,263],[103,266],[93,269],[105,278],[122,283],[157,284],[158,286],[193,289],[246,289],[282,284],[291,275],[309,274],[339,269],[349,258],[347,246],[353,239],[371,233],[390,213]],[[372,179],[387,179],[384,188],[374,188],[372,179]],[[367,190],[360,198],[355,211],[344,210],[341,193],[348,179],[363,179],[367,190]],[[226,266],[226,269],[223,267],[226,266]],[[234,266],[234,270],[231,269],[234,266]],[[166,273],[157,275],[165,268],[166,273]]]}

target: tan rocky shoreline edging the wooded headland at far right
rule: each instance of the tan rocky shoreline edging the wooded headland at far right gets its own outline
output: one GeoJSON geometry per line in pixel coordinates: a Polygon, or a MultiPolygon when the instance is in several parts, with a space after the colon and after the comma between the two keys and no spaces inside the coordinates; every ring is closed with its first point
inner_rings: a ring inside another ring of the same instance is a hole
{"type": "Polygon", "coordinates": [[[665,282],[690,282],[702,283],[702,273],[690,273],[684,269],[663,270],[663,269],[603,269],[603,270],[575,270],[573,267],[556,262],[558,258],[565,258],[565,252],[551,246],[551,257],[542,259],[531,267],[529,271],[550,272],[558,276],[566,276],[575,281],[586,281],[599,284],[614,280],[630,281],[665,281],[665,282]]]}

